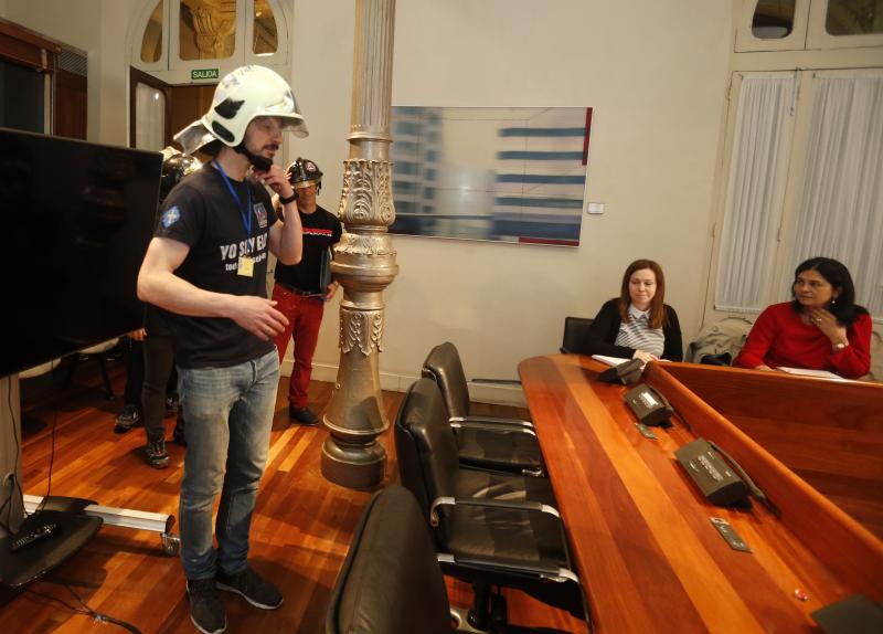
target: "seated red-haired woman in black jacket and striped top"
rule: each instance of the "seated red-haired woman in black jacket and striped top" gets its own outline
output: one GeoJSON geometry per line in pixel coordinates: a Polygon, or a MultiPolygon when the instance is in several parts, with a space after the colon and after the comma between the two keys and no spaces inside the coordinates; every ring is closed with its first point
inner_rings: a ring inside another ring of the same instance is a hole
{"type": "Polygon", "coordinates": [[[652,260],[636,260],[626,268],[619,297],[605,302],[598,310],[581,352],[645,363],[683,360],[678,314],[664,298],[662,267],[652,260]]]}

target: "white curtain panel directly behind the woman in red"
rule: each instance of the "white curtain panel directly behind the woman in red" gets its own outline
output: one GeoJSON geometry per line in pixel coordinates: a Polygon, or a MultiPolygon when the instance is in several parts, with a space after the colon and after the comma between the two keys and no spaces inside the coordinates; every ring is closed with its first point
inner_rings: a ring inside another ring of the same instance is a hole
{"type": "Polygon", "coordinates": [[[815,78],[806,175],[784,272],[808,257],[847,265],[857,302],[883,323],[883,73],[815,78]]]}

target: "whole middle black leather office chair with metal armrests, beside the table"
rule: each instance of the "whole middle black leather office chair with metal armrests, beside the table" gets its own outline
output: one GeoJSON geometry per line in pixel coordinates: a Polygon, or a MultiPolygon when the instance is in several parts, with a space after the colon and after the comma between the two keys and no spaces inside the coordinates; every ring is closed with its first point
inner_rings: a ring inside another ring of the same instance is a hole
{"type": "Polygon", "coordinates": [[[398,410],[395,447],[401,482],[435,527],[442,570],[476,589],[470,623],[487,624],[490,585],[522,589],[585,619],[561,518],[543,490],[549,482],[460,468],[446,414],[438,387],[419,379],[398,410]]]}

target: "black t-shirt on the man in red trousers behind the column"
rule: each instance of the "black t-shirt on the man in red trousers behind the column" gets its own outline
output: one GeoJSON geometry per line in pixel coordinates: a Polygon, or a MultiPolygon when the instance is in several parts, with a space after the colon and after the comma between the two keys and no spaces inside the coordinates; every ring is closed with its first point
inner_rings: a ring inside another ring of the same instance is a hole
{"type": "Polygon", "coordinates": [[[276,263],[274,277],[298,290],[326,293],[327,289],[319,286],[322,255],[340,242],[343,229],[340,220],[321,207],[312,213],[298,213],[304,228],[304,255],[298,264],[276,263]]]}

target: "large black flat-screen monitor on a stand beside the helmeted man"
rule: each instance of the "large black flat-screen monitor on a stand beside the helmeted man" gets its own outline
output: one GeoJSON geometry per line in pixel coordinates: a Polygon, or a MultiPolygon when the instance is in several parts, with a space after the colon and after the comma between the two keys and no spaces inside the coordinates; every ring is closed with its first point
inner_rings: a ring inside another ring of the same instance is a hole
{"type": "Polygon", "coordinates": [[[0,128],[0,377],[143,324],[162,156],[0,128]]]}

